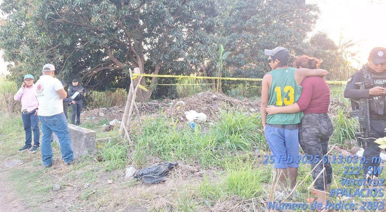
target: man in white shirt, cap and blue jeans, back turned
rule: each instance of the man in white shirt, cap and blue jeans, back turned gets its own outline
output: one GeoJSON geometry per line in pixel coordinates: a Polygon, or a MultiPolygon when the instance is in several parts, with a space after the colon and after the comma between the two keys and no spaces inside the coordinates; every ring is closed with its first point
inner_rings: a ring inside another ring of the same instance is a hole
{"type": "Polygon", "coordinates": [[[51,135],[58,136],[62,159],[67,165],[74,161],[71,139],[66,116],[63,113],[63,98],[67,97],[62,83],[54,78],[55,67],[47,63],[43,66],[43,75],[35,84],[36,98],[39,102],[37,115],[42,123],[41,152],[44,167],[52,166],[51,135]]]}

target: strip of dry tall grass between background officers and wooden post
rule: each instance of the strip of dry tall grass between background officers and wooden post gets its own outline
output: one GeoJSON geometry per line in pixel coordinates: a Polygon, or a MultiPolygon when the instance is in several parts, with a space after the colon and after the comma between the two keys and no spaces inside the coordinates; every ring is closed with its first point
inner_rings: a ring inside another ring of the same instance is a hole
{"type": "Polygon", "coordinates": [[[117,88],[115,91],[104,92],[93,90],[88,99],[88,107],[91,109],[124,106],[127,100],[127,92],[122,88],[117,88]]]}

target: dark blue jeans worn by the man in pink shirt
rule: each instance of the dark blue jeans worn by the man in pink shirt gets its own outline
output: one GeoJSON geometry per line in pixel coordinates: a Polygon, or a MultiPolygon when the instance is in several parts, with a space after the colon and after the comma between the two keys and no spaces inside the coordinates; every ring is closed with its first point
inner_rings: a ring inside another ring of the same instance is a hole
{"type": "Polygon", "coordinates": [[[35,115],[35,110],[31,112],[22,112],[22,120],[25,131],[25,145],[31,147],[32,131],[34,132],[34,145],[39,146],[39,118],[35,115]]]}

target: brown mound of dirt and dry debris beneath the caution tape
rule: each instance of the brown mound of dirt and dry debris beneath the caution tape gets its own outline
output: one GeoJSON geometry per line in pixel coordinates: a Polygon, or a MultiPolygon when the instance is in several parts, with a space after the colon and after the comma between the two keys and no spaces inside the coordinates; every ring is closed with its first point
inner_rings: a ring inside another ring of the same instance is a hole
{"type": "Polygon", "coordinates": [[[260,101],[244,101],[223,95],[222,93],[201,92],[191,97],[172,100],[173,105],[166,108],[166,115],[174,119],[186,121],[185,111],[196,110],[207,115],[207,119],[213,120],[214,115],[218,114],[218,109],[237,109],[245,108],[249,111],[260,110],[260,101]]]}

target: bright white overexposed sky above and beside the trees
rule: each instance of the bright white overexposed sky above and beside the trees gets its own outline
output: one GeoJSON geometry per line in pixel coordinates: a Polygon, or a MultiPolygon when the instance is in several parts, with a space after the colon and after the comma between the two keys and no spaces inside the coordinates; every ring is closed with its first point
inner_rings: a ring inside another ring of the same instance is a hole
{"type": "MultiPolygon", "coordinates": [[[[359,51],[354,67],[366,63],[370,50],[386,47],[386,0],[305,0],[316,3],[320,8],[319,19],[310,35],[318,31],[339,42],[342,33],[344,40],[352,40],[359,51]]],[[[2,0],[0,0],[0,3],[2,0]]],[[[1,15],[0,15],[1,17],[1,15]]],[[[7,73],[7,63],[0,52],[0,75],[7,73]]]]}

